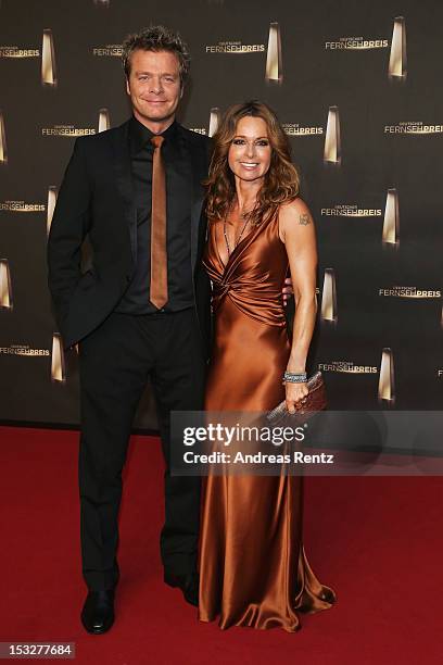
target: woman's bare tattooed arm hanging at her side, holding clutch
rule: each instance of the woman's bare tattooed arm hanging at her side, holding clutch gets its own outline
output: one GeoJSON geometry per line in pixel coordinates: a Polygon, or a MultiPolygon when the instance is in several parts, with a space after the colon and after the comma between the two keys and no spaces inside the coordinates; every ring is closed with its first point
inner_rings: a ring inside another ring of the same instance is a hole
{"type": "MultiPolygon", "coordinates": [[[[287,372],[299,374],[306,371],[306,357],[317,313],[315,228],[309,209],[302,199],[298,198],[281,206],[279,231],[288,253],[295,298],[292,347],[287,372]]],[[[306,382],[286,382],[286,400],[290,413],[295,412],[295,404],[307,392],[306,382]]]]}

